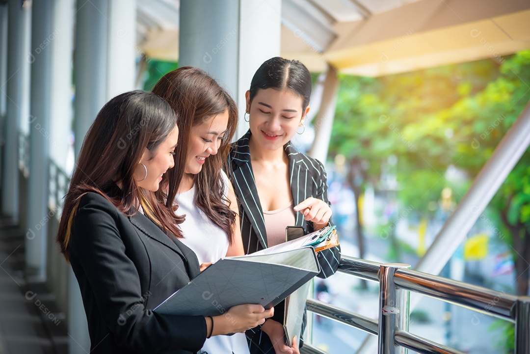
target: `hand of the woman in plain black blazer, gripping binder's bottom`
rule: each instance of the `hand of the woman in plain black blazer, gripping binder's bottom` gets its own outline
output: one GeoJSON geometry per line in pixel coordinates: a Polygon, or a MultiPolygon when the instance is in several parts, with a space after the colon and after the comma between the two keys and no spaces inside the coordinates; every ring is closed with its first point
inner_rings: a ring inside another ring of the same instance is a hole
{"type": "MultiPolygon", "coordinates": [[[[237,305],[231,307],[223,315],[214,317],[214,331],[212,335],[244,332],[265,322],[265,318],[272,317],[274,308],[266,310],[261,305],[237,305]]],[[[209,323],[206,322],[208,331],[209,323]]],[[[208,332],[209,333],[209,332],[208,332]]]]}

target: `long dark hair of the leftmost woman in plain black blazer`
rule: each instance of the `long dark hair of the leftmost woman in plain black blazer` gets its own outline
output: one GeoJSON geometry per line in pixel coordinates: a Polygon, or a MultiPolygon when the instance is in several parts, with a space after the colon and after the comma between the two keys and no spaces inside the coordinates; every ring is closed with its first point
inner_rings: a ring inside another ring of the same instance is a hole
{"type": "Polygon", "coordinates": [[[74,214],[87,192],[101,194],[127,216],[137,212],[139,201],[144,213],[168,236],[181,236],[171,210],[158,203],[153,192],[139,188],[134,178],[145,148],[154,152],[176,121],[167,102],[145,91],[122,93],[99,111],[83,141],[59,223],[57,242],[67,261],[74,214]]]}

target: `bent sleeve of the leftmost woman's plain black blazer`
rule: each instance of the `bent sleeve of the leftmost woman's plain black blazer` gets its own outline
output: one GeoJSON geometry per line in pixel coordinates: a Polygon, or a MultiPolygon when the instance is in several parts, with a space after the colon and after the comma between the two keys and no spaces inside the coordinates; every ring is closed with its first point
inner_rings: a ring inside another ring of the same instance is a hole
{"type": "Polygon", "coordinates": [[[128,351],[200,350],[206,340],[203,316],[161,315],[144,307],[137,265],[126,255],[121,237],[127,235],[119,231],[119,211],[104,201],[80,205],[69,244],[70,261],[82,267],[82,281],[93,292],[97,309],[90,310],[99,311],[116,345],[128,351]]]}

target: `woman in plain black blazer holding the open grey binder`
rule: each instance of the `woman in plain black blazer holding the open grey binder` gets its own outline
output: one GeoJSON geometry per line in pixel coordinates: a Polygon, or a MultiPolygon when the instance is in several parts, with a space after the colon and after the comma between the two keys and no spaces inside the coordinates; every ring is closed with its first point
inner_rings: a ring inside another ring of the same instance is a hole
{"type": "Polygon", "coordinates": [[[178,133],[169,104],[133,91],[105,104],[83,143],[57,241],[81,288],[91,353],[197,352],[211,335],[272,315],[260,305],[208,318],[153,312],[199,273],[178,240],[180,220],[153,194],[174,165],[178,133]]]}

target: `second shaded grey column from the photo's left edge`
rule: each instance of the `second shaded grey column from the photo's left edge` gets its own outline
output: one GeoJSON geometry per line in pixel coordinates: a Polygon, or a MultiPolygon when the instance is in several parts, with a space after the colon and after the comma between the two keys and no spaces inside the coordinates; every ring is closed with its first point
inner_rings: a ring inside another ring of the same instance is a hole
{"type": "Polygon", "coordinates": [[[29,226],[25,238],[25,264],[30,276],[46,280],[46,244],[48,222],[48,158],[50,145],[50,42],[52,0],[32,4],[31,25],[31,105],[30,175],[26,208],[29,226]]]}

